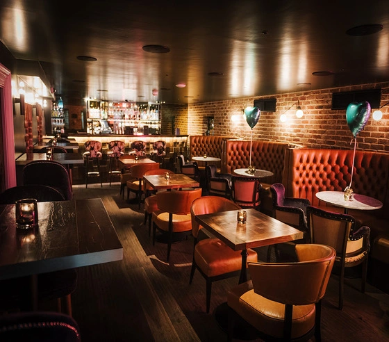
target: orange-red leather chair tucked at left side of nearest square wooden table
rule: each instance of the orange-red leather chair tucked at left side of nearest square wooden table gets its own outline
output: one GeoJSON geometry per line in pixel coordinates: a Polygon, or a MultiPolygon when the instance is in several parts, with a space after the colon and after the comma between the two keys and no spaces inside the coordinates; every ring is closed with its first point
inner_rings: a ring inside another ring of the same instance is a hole
{"type": "MultiPolygon", "coordinates": [[[[195,238],[195,246],[189,284],[192,284],[195,270],[199,270],[206,279],[207,314],[210,308],[212,283],[220,279],[239,275],[242,268],[242,255],[240,250],[233,250],[220,241],[219,238],[205,238],[199,241],[199,231],[203,227],[195,220],[195,216],[238,209],[240,209],[238,204],[219,196],[203,196],[192,202],[190,213],[192,216],[192,235],[195,238]]],[[[247,252],[249,253],[247,261],[256,262],[258,260],[258,254],[254,250],[249,249],[247,252]]]]}

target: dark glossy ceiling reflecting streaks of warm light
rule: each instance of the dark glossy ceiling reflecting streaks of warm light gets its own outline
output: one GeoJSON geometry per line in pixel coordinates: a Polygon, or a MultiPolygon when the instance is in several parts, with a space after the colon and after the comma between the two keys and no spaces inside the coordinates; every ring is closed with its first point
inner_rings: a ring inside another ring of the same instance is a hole
{"type": "Polygon", "coordinates": [[[65,104],[193,104],[389,81],[388,0],[2,0],[0,23],[18,72],[44,74],[65,104]],[[383,29],[346,34],[366,24],[383,29]],[[142,49],[154,44],[169,52],[142,49]]]}

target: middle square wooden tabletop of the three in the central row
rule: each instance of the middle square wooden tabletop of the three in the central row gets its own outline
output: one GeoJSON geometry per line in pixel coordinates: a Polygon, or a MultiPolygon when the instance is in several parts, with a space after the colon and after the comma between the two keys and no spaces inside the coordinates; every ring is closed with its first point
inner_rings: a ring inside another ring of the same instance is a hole
{"type": "Polygon", "coordinates": [[[171,173],[169,180],[165,179],[165,174],[147,174],[143,176],[143,179],[145,185],[149,184],[149,186],[156,190],[198,188],[200,186],[198,181],[181,173],[171,173]]]}

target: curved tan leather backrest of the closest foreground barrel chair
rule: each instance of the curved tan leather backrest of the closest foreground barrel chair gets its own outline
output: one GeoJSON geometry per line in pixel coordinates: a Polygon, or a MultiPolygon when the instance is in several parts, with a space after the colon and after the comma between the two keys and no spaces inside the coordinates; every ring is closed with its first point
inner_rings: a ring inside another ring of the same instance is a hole
{"type": "Polygon", "coordinates": [[[319,302],[333,268],[336,251],[320,244],[296,245],[298,262],[248,263],[254,292],[291,305],[319,302]]]}

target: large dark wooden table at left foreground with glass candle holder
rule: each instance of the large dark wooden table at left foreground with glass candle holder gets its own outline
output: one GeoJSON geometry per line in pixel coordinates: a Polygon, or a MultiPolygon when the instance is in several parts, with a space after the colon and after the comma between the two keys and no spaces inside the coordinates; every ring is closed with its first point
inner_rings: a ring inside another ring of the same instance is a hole
{"type": "MultiPolygon", "coordinates": [[[[15,204],[0,206],[0,279],[31,276],[36,285],[40,273],[123,259],[100,198],[40,202],[38,218],[36,229],[17,229],[15,204]]],[[[36,307],[36,293],[32,300],[36,307]]]]}

